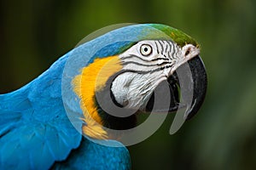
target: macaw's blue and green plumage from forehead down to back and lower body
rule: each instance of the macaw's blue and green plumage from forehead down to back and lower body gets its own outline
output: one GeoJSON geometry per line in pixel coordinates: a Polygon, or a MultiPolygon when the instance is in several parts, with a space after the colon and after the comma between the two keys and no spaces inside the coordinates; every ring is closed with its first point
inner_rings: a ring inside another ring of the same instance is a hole
{"type": "Polygon", "coordinates": [[[54,163],[56,169],[130,169],[124,145],[103,146],[81,135],[83,112],[72,81],[96,58],[148,39],[194,43],[169,26],[126,26],[74,48],[23,88],[0,94],[0,169],[49,169],[54,163]]]}

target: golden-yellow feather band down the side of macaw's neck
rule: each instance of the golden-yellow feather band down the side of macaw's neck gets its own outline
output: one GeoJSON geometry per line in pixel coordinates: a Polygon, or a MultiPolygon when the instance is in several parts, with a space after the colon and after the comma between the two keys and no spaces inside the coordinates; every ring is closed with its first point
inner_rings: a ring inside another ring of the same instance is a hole
{"type": "Polygon", "coordinates": [[[73,79],[73,90],[81,99],[80,107],[84,113],[83,133],[91,138],[108,139],[108,133],[102,127],[102,118],[96,108],[95,94],[105,87],[109,77],[121,69],[118,56],[95,59],[73,79]]]}

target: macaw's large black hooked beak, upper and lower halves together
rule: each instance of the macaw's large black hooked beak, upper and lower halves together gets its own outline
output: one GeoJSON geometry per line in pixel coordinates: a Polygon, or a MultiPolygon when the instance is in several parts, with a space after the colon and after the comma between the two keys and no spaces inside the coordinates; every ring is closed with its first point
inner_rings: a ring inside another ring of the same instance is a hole
{"type": "Polygon", "coordinates": [[[174,112],[186,108],[184,118],[189,120],[201,108],[206,93],[207,71],[198,55],[180,65],[166,81],[160,82],[148,100],[145,111],[152,113],[174,112]],[[160,99],[157,99],[156,96],[160,99]],[[166,106],[163,101],[170,102],[166,106]]]}

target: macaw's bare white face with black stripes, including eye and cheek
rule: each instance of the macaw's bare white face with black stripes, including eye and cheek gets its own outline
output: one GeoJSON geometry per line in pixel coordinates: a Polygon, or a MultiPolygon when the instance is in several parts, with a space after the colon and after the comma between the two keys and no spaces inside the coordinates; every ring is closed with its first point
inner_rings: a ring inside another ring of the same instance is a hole
{"type": "Polygon", "coordinates": [[[199,49],[191,44],[180,48],[172,41],[137,42],[119,54],[124,73],[113,80],[114,98],[120,105],[142,109],[160,82],[199,53],[199,49]]]}

